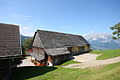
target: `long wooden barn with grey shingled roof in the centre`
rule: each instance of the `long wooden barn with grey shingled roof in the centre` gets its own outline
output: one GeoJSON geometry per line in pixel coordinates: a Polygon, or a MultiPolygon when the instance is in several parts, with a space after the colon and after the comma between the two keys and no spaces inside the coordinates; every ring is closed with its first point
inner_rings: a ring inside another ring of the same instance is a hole
{"type": "Polygon", "coordinates": [[[71,59],[73,55],[89,52],[90,44],[80,35],[37,30],[32,49],[32,60],[53,66],[71,59]]]}

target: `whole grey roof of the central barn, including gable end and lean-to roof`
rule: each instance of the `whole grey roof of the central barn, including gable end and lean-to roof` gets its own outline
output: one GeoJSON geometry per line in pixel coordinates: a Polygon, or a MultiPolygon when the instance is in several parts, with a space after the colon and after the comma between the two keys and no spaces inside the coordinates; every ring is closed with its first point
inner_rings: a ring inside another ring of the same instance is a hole
{"type": "Polygon", "coordinates": [[[37,46],[32,46],[44,48],[48,55],[69,54],[69,51],[66,47],[90,45],[80,35],[37,30],[34,35],[33,41],[36,35],[39,36],[39,43],[36,43],[37,46]]]}

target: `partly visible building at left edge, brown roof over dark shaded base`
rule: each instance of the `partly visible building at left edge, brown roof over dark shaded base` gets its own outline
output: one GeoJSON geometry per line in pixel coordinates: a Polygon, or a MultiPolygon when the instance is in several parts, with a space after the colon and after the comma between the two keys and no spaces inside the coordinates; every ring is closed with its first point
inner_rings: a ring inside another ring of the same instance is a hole
{"type": "Polygon", "coordinates": [[[9,80],[11,69],[20,62],[19,26],[0,23],[0,80],[9,80]]]}

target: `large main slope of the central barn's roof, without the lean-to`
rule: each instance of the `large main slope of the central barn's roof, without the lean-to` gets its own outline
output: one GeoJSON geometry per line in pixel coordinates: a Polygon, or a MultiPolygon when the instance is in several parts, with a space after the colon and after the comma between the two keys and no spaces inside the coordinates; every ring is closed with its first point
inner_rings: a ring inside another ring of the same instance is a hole
{"type": "Polygon", "coordinates": [[[45,49],[89,45],[89,43],[80,35],[44,30],[38,30],[37,33],[45,49]]]}

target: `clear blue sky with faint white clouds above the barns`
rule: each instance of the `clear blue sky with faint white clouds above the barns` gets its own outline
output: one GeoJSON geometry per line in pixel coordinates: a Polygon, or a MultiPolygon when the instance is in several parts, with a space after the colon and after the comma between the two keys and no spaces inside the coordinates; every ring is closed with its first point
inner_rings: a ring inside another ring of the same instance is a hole
{"type": "Polygon", "coordinates": [[[111,33],[120,22],[120,0],[0,0],[0,22],[73,34],[111,33]]]}

